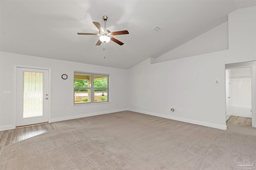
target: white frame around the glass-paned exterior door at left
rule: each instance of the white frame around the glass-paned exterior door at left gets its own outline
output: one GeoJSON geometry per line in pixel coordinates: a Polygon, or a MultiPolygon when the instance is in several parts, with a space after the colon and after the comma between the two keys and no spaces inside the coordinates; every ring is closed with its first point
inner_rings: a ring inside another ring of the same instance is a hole
{"type": "MultiPolygon", "coordinates": [[[[17,68],[32,68],[32,69],[40,69],[40,70],[48,70],[48,95],[51,96],[51,68],[45,67],[36,67],[36,66],[24,66],[24,65],[14,65],[14,89],[13,89],[13,129],[16,128],[16,101],[17,101],[17,68]]],[[[51,97],[48,99],[48,122],[51,123],[51,97]]]]}

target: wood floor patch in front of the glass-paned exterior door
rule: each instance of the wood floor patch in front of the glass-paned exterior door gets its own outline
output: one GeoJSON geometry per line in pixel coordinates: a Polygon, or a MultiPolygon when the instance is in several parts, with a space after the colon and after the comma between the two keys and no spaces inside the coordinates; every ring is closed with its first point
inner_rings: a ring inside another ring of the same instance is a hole
{"type": "Polygon", "coordinates": [[[0,150],[2,147],[52,131],[55,128],[51,123],[45,123],[40,125],[19,127],[16,129],[10,129],[6,131],[0,131],[0,150]]]}

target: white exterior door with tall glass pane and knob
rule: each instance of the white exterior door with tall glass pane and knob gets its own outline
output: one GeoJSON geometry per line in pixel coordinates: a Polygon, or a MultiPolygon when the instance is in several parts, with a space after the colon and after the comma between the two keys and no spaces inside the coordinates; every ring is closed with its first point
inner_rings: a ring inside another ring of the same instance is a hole
{"type": "Polygon", "coordinates": [[[49,70],[16,70],[16,127],[48,122],[49,70]]]}

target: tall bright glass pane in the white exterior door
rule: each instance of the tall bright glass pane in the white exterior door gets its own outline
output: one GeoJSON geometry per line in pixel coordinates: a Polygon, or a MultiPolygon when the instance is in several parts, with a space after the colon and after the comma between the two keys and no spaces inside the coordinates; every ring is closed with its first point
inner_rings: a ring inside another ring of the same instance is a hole
{"type": "Polygon", "coordinates": [[[43,73],[24,72],[23,118],[43,115],[43,73]]]}

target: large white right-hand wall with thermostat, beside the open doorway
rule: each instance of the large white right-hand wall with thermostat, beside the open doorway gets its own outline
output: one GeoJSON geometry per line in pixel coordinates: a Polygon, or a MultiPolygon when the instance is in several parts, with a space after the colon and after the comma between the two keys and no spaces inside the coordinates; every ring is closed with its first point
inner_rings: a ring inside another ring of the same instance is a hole
{"type": "Polygon", "coordinates": [[[256,60],[255,11],[229,15],[229,50],[130,68],[130,110],[226,129],[225,64],[256,60]]]}

